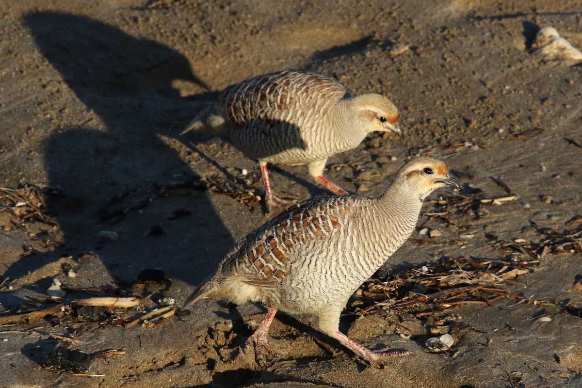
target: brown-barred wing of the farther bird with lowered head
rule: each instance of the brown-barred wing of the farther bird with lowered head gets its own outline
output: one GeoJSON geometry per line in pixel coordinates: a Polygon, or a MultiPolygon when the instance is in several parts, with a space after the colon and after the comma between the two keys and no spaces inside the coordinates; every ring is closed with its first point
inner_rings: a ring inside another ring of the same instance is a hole
{"type": "Polygon", "coordinates": [[[318,105],[329,104],[346,95],[346,88],[333,77],[284,71],[229,86],[221,93],[218,105],[221,115],[235,126],[250,120],[291,122],[296,116],[290,115],[293,105],[306,104],[317,111],[318,105]]]}

